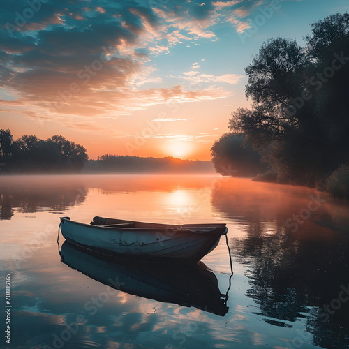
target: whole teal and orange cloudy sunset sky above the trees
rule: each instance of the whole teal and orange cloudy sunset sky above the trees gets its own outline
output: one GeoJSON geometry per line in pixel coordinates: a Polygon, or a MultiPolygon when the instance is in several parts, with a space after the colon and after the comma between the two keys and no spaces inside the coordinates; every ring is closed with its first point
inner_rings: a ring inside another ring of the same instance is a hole
{"type": "Polygon", "coordinates": [[[348,0],[3,1],[0,128],[102,154],[209,160],[251,102],[244,68],[268,38],[310,34],[348,0]]]}

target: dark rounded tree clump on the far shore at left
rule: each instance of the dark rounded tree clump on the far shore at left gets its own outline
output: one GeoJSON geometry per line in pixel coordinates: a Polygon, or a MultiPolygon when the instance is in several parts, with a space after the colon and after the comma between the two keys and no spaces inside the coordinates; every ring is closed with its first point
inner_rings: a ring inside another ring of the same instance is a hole
{"type": "Polygon", "coordinates": [[[22,135],[13,140],[9,129],[0,129],[1,172],[75,172],[89,157],[84,146],[53,135],[40,140],[22,135]]]}

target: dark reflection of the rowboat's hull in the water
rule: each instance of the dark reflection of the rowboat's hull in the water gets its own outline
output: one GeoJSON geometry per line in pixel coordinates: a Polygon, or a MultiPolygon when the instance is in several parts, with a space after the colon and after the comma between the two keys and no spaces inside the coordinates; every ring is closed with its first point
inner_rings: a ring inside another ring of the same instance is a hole
{"type": "Polygon", "coordinates": [[[228,312],[228,294],[221,294],[216,276],[202,262],[176,267],[115,259],[67,241],[60,255],[69,267],[130,295],[194,306],[220,316],[228,312]],[[119,282],[110,282],[115,280],[119,282]]]}

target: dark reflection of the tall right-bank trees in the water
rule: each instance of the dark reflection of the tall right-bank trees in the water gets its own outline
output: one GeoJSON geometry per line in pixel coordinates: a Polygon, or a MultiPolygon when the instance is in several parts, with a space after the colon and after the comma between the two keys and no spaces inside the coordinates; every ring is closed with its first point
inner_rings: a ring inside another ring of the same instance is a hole
{"type": "Polygon", "coordinates": [[[338,202],[325,196],[297,229],[287,224],[307,207],[310,195],[308,188],[253,182],[246,188],[228,181],[212,192],[212,206],[236,223],[230,248],[248,266],[247,295],[258,304],[255,313],[286,327],[306,318],[315,345],[347,348],[349,302],[330,315],[323,306],[339,298],[341,285],[348,288],[349,235],[341,228],[348,210],[340,212],[338,202]]]}

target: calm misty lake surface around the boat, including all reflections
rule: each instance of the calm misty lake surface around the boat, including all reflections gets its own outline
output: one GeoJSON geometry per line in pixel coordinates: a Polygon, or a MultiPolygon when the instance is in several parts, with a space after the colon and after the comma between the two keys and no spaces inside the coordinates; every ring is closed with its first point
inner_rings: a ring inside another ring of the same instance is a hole
{"type": "Polygon", "coordinates": [[[11,274],[12,305],[1,347],[349,348],[349,212],[325,193],[85,175],[3,176],[0,194],[0,288],[4,298],[11,274]],[[107,260],[62,237],[60,255],[59,216],[227,223],[234,274],[224,237],[186,269],[107,260]]]}

